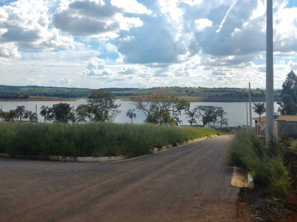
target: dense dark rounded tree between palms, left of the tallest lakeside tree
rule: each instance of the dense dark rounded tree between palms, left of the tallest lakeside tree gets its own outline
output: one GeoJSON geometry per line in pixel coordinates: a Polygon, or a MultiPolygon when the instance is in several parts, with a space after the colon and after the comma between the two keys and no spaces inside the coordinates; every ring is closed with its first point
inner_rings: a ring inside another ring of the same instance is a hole
{"type": "Polygon", "coordinates": [[[68,103],[58,103],[54,104],[53,107],[48,109],[48,117],[49,121],[53,121],[54,123],[69,123],[71,120],[71,110],[72,108],[68,103]]]}

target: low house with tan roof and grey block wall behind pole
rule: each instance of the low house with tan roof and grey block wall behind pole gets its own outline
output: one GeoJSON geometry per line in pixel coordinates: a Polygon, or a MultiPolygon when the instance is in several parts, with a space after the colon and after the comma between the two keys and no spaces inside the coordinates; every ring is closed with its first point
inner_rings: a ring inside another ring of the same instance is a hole
{"type": "MultiPolygon", "coordinates": [[[[265,135],[266,117],[253,118],[255,120],[255,131],[258,135],[265,135]]],[[[283,136],[297,136],[297,116],[293,115],[275,115],[274,116],[274,136],[276,138],[283,136]]]]}

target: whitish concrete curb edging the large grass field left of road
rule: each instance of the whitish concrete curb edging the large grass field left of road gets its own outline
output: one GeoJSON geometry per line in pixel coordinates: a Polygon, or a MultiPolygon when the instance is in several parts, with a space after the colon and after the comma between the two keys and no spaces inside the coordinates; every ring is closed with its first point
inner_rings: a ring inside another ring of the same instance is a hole
{"type": "MultiPolygon", "coordinates": [[[[172,144],[163,146],[161,148],[154,148],[153,153],[159,152],[165,149],[171,149],[174,147],[179,147],[184,144],[189,144],[189,143],[194,143],[198,142],[210,137],[215,137],[218,135],[212,135],[212,136],[204,136],[201,138],[189,140],[189,141],[184,141],[181,144],[177,143],[176,146],[173,146],[172,144]]],[[[12,157],[9,153],[0,153],[0,157],[12,157]]],[[[111,156],[111,157],[63,157],[63,156],[42,156],[42,155],[37,155],[37,156],[26,156],[26,155],[19,155],[16,156],[18,158],[25,158],[25,159],[35,159],[35,160],[53,160],[53,161],[62,161],[62,162],[112,162],[112,161],[119,161],[119,160],[129,160],[133,158],[127,158],[125,156],[111,156]]],[[[141,157],[141,156],[140,156],[141,157]]],[[[138,157],[137,157],[138,158],[138,157]]]]}

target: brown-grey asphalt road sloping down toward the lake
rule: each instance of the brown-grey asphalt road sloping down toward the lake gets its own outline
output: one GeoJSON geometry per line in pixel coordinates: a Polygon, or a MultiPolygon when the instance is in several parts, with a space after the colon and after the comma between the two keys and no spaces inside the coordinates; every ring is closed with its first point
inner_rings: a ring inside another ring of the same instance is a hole
{"type": "Polygon", "coordinates": [[[0,158],[0,221],[237,221],[229,140],[109,163],[0,158]]]}

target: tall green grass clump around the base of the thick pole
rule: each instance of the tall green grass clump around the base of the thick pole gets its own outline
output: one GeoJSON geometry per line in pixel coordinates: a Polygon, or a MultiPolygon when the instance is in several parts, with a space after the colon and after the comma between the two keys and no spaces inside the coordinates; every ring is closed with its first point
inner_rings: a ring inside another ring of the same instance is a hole
{"type": "Polygon", "coordinates": [[[291,187],[284,163],[285,150],[278,142],[268,152],[264,137],[242,130],[236,133],[229,151],[232,164],[249,171],[256,182],[267,184],[278,195],[289,194],[291,187]]]}

